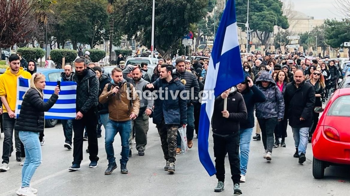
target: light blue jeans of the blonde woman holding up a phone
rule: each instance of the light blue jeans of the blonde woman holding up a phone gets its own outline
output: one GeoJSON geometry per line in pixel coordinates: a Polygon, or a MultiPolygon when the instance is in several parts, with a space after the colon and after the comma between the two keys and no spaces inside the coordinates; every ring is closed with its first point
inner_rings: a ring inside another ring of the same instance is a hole
{"type": "Polygon", "coordinates": [[[19,137],[26,152],[26,160],[22,167],[22,187],[29,187],[30,180],[42,161],[39,133],[19,131],[19,137]]]}

